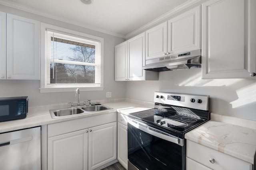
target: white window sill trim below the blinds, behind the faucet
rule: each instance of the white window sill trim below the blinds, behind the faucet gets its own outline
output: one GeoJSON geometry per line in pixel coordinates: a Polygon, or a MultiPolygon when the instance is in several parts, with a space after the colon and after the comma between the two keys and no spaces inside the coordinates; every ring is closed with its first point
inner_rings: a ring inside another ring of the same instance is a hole
{"type": "MultiPolygon", "coordinates": [[[[80,91],[101,91],[104,87],[78,87],[80,91]]],[[[76,88],[39,88],[40,93],[74,92],[76,88]]]]}

